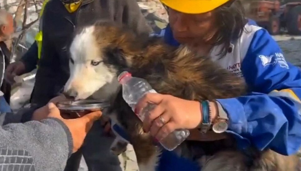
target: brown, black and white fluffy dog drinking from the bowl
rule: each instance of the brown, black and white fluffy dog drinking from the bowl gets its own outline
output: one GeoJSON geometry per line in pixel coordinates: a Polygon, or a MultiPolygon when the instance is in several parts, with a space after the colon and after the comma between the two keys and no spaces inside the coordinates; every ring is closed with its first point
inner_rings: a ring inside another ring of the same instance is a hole
{"type": "MultiPolygon", "coordinates": [[[[122,98],[117,76],[129,71],[146,79],[162,94],[187,100],[214,100],[244,95],[244,81],[222,69],[208,57],[197,56],[186,47],[166,45],[160,38],[140,37],[112,23],[97,22],[79,30],[70,46],[71,76],[65,92],[75,99],[112,101],[104,111],[130,135],[141,171],[154,171],[160,148],[141,129],[141,121],[122,98]]],[[[189,115],[189,114],[183,114],[189,115]]],[[[235,140],[184,141],[175,151],[197,159],[205,171],[297,170],[296,156],[265,150],[236,149],[235,140]],[[199,149],[199,152],[195,153],[199,149]]]]}

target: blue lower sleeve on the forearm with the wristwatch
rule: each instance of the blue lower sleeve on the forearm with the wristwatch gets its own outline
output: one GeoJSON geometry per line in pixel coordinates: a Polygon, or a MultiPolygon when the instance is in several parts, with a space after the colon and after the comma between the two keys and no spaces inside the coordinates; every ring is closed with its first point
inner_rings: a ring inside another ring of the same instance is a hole
{"type": "Polygon", "coordinates": [[[290,155],[300,148],[301,116],[292,99],[252,93],[217,101],[228,114],[229,132],[249,140],[258,149],[270,148],[290,155]]]}

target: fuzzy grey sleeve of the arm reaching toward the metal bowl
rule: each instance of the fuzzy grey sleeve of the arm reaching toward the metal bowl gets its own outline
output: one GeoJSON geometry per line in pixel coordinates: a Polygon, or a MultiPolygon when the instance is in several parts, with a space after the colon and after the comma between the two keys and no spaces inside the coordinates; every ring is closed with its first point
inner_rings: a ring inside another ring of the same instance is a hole
{"type": "Polygon", "coordinates": [[[64,170],[72,144],[69,129],[55,118],[4,125],[0,128],[0,170],[64,170]]]}

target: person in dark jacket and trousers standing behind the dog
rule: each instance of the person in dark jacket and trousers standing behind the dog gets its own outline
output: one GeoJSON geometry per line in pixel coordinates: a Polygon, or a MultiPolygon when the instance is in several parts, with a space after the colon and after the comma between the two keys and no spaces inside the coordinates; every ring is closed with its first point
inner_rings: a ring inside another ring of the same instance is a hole
{"type": "MultiPolygon", "coordinates": [[[[69,78],[68,45],[76,28],[110,20],[131,27],[138,33],[149,34],[150,26],[142,15],[136,0],[49,0],[43,9],[41,53],[40,43],[34,42],[21,61],[8,66],[6,75],[21,75],[33,70],[38,61],[31,108],[44,106],[64,87],[69,78]]],[[[82,152],[68,160],[65,171],[78,170],[82,154],[90,171],[121,171],[118,156],[110,153],[113,137],[103,134],[100,121],[95,122],[87,135],[82,152]]]]}

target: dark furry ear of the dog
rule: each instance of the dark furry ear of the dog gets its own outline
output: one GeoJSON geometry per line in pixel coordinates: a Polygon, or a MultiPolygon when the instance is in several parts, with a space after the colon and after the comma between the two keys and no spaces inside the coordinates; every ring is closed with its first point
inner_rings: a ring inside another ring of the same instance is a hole
{"type": "Polygon", "coordinates": [[[108,47],[105,50],[106,58],[104,63],[118,66],[120,69],[126,69],[128,63],[124,56],[124,51],[120,47],[108,47]]]}

